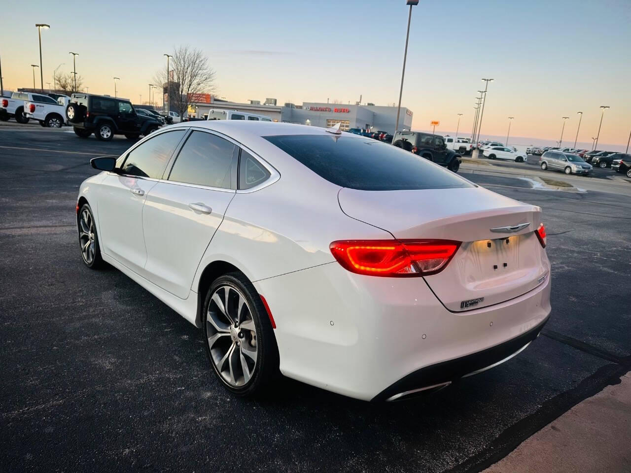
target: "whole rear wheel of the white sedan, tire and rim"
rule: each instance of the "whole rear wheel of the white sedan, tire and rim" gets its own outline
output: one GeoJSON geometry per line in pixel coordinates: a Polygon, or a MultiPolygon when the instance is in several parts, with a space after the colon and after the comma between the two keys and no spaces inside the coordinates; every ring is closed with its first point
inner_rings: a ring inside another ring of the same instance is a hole
{"type": "Polygon", "coordinates": [[[218,277],[204,301],[206,354],[215,374],[237,395],[258,392],[278,375],[278,347],[266,309],[240,272],[218,277]]]}

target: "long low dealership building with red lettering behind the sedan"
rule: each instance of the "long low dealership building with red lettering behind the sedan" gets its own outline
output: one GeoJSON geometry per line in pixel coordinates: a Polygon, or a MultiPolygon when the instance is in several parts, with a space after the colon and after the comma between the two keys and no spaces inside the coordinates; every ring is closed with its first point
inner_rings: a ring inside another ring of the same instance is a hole
{"type": "MultiPolygon", "coordinates": [[[[200,97],[201,98],[201,97],[200,97]]],[[[338,103],[304,102],[302,105],[285,103],[276,105],[276,100],[268,99],[261,104],[256,100],[251,103],[236,103],[215,100],[208,96],[193,102],[189,115],[205,118],[211,109],[236,110],[248,114],[265,115],[274,122],[298,123],[317,127],[331,127],[341,123],[342,130],[350,128],[369,128],[375,131],[394,133],[396,125],[396,107],[379,105],[342,105],[338,103]]],[[[412,125],[412,111],[401,107],[399,129],[409,130],[412,125]]]]}

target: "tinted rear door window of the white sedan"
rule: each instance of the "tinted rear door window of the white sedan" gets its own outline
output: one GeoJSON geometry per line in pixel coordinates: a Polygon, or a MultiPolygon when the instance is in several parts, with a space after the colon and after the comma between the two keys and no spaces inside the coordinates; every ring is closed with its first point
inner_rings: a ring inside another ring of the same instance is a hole
{"type": "Polygon", "coordinates": [[[203,131],[194,131],[171,170],[168,180],[230,189],[235,145],[203,131]]]}

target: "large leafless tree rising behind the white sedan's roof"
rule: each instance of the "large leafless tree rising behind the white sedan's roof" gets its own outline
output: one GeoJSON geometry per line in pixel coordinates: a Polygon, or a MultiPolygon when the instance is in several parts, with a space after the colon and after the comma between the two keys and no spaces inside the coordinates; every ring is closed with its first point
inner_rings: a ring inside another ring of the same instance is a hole
{"type": "Polygon", "coordinates": [[[213,93],[215,87],[215,70],[210,66],[208,57],[201,50],[180,46],[173,51],[169,62],[170,79],[167,79],[167,67],[158,71],[153,83],[162,84],[167,89],[170,106],[175,107],[180,119],[195,102],[195,95],[213,93]]]}

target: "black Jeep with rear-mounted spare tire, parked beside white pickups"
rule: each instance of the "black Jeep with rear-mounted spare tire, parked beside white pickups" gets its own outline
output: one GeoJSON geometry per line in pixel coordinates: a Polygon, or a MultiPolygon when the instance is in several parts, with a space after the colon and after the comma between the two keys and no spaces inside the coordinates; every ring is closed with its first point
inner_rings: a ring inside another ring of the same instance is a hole
{"type": "Polygon", "coordinates": [[[94,133],[102,141],[115,134],[138,139],[160,128],[158,120],[136,114],[129,100],[88,93],[73,93],[66,117],[77,136],[87,138],[94,133]]]}

